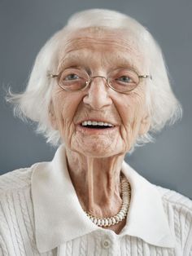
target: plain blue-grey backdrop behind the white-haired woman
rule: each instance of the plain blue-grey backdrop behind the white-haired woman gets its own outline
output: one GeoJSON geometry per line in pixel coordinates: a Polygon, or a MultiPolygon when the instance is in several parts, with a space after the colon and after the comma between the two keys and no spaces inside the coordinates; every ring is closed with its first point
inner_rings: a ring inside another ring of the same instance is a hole
{"type": "Polygon", "coordinates": [[[151,143],[129,158],[130,165],[152,183],[174,189],[192,198],[191,157],[191,0],[98,0],[0,1],[0,171],[6,173],[37,161],[50,161],[55,148],[35,135],[34,126],[12,115],[3,87],[24,90],[33,61],[56,30],[75,11],[88,8],[122,11],[144,24],[163,48],[172,76],[173,91],[180,99],[182,121],[168,127],[151,143]]]}

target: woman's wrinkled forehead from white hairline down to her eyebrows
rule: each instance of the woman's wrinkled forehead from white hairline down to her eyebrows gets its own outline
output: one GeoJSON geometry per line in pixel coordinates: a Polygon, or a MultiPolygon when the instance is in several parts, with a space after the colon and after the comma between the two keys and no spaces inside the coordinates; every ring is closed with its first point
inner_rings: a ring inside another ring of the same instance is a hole
{"type": "MultiPolygon", "coordinates": [[[[117,33],[116,31],[112,33],[102,31],[101,33],[100,30],[95,30],[94,33],[93,31],[78,33],[78,36],[71,34],[67,38],[59,54],[59,67],[63,66],[66,59],[70,62],[70,57],[74,60],[74,56],[76,56],[78,61],[81,60],[81,56],[84,59],[87,59],[86,57],[89,59],[90,55],[94,53],[98,58],[102,56],[103,65],[106,62],[111,62],[111,60],[123,62],[121,60],[122,56],[124,56],[124,59],[129,60],[129,64],[135,63],[137,65],[139,63],[140,66],[144,64],[142,51],[141,49],[138,50],[135,37],[128,37],[124,33],[117,33]]],[[[126,64],[128,61],[124,63],[126,64]]]]}

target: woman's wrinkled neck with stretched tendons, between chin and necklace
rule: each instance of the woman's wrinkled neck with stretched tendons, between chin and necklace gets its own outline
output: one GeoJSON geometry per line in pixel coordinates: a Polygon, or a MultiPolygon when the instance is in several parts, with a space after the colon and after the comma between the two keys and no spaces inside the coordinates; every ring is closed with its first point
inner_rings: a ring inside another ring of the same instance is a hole
{"type": "Polygon", "coordinates": [[[120,170],[124,155],[85,157],[67,149],[68,169],[84,210],[103,218],[117,214],[122,203],[120,170]]]}

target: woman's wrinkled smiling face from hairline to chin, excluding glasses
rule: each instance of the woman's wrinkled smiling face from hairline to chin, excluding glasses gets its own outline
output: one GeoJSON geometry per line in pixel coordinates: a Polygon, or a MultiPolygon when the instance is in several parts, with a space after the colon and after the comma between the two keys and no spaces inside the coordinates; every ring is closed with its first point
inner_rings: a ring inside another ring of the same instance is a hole
{"type": "MultiPolygon", "coordinates": [[[[90,77],[107,77],[115,68],[134,68],[140,75],[148,73],[133,38],[114,29],[89,28],[72,33],[60,53],[58,73],[71,67],[85,69],[90,77]]],[[[150,126],[146,80],[124,94],[109,88],[101,77],[94,78],[85,90],[75,92],[63,90],[55,81],[50,121],[72,151],[89,157],[125,154],[150,126]],[[89,128],[82,125],[84,121],[112,126],[89,128]]]]}

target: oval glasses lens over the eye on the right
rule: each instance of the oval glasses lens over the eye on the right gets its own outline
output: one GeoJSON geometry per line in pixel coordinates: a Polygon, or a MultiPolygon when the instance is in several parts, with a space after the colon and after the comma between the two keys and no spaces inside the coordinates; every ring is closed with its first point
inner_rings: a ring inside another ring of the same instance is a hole
{"type": "Polygon", "coordinates": [[[135,71],[128,68],[118,68],[108,74],[109,85],[119,92],[133,90],[139,83],[139,77],[135,71]]]}

